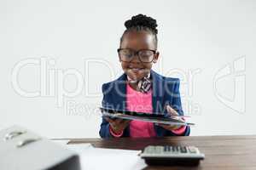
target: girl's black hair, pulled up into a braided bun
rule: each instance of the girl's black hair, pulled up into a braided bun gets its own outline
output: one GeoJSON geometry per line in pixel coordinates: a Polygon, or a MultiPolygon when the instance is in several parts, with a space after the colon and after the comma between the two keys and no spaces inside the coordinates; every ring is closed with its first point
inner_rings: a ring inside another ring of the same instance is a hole
{"type": "Polygon", "coordinates": [[[125,33],[127,33],[128,31],[148,31],[148,33],[154,36],[154,43],[155,43],[155,47],[157,48],[158,30],[156,29],[157,27],[156,20],[154,20],[153,18],[144,14],[137,14],[135,16],[132,16],[131,20],[125,21],[125,27],[126,27],[126,30],[124,31],[120,39],[120,42],[123,41],[123,37],[125,33]]]}

